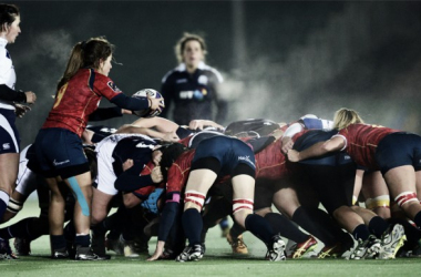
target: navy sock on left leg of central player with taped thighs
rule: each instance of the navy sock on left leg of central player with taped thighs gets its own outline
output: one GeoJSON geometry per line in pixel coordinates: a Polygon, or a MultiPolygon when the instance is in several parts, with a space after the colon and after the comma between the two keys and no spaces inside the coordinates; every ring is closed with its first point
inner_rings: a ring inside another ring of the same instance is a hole
{"type": "Polygon", "coordinates": [[[188,246],[201,244],[203,220],[201,213],[195,208],[188,208],[183,213],[182,223],[184,234],[188,238],[188,246]]]}

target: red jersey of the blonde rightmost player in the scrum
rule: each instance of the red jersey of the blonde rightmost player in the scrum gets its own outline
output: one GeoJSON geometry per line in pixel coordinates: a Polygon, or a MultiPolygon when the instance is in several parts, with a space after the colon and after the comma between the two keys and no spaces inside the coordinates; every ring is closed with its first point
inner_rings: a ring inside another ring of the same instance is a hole
{"type": "Polygon", "coordinates": [[[380,125],[350,124],[332,137],[342,136],[346,140],[343,150],[357,164],[369,170],[379,170],[374,156],[377,145],[384,136],[396,132],[401,131],[380,125]]]}

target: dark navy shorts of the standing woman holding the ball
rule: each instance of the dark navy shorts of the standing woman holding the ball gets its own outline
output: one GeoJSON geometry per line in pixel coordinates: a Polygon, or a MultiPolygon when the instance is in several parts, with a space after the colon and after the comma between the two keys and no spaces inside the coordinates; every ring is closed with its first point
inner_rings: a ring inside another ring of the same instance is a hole
{"type": "Polygon", "coordinates": [[[45,177],[69,178],[90,171],[81,138],[69,130],[42,129],[35,138],[34,151],[38,166],[45,177]]]}

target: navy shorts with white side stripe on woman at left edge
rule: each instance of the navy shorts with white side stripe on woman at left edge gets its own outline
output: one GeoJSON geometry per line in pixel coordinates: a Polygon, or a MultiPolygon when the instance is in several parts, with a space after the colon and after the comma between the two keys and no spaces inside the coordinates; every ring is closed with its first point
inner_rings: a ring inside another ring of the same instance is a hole
{"type": "Polygon", "coordinates": [[[0,109],[0,154],[20,152],[20,136],[14,121],[14,110],[0,109]]]}

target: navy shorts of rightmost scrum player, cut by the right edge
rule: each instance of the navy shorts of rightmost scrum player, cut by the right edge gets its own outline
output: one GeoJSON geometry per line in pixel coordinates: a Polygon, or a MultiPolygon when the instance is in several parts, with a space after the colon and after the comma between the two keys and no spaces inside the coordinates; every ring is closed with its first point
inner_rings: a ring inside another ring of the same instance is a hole
{"type": "Polygon", "coordinates": [[[382,174],[402,165],[412,165],[415,171],[420,171],[421,136],[404,132],[384,136],[377,147],[376,162],[382,174]]]}

